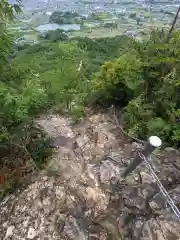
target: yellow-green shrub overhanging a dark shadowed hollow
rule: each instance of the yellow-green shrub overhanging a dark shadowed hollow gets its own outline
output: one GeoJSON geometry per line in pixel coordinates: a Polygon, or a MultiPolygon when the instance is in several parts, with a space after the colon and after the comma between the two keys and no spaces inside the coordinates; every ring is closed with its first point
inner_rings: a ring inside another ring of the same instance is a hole
{"type": "Polygon", "coordinates": [[[141,60],[130,54],[105,63],[92,81],[93,91],[101,92],[102,101],[126,105],[140,91],[143,83],[141,65],[141,60]]]}

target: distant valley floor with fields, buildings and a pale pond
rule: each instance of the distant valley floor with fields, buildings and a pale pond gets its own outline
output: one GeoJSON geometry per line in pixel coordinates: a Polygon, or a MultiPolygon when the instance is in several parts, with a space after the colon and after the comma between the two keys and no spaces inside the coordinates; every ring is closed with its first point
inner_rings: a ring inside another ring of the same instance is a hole
{"type": "Polygon", "coordinates": [[[17,39],[23,36],[26,41],[34,42],[42,32],[57,28],[66,30],[70,37],[128,35],[143,39],[152,28],[168,29],[178,7],[176,0],[28,0],[23,4],[23,14],[9,25],[9,29],[17,39]],[[108,31],[107,24],[113,26],[108,31]]]}

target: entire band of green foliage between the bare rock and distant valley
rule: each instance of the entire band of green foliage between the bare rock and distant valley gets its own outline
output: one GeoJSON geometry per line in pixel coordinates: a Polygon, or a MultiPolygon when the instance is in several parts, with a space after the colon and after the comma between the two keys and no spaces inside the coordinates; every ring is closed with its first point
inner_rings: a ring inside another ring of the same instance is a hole
{"type": "MultiPolygon", "coordinates": [[[[47,32],[38,44],[15,46],[6,22],[17,6],[3,1],[0,8],[5,13],[0,15],[3,171],[7,156],[14,161],[6,166],[11,172],[18,159],[40,166],[50,153],[48,139],[33,125],[37,114],[68,112],[77,120],[92,102],[120,107],[129,135],[147,139],[156,134],[180,147],[180,32],[167,40],[164,32],[154,31],[140,42],[127,36],[68,39],[57,30],[47,32]]],[[[71,14],[66,13],[66,20],[71,14]]]]}

